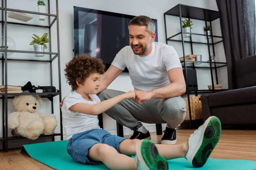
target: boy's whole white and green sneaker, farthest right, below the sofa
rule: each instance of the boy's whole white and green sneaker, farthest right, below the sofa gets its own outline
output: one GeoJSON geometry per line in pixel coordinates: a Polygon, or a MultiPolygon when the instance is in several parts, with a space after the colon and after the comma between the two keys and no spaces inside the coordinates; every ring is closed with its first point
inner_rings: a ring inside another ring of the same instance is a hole
{"type": "Polygon", "coordinates": [[[202,167],[221,137],[221,122],[210,116],[188,139],[189,149],[185,158],[193,167],[202,167]]]}

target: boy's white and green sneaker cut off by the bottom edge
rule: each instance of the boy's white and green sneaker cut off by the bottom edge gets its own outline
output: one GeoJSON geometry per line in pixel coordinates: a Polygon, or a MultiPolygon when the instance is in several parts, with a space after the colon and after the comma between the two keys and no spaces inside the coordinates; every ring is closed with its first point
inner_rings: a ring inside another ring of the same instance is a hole
{"type": "Polygon", "coordinates": [[[159,155],[155,144],[148,139],[137,144],[135,164],[138,170],[168,170],[166,159],[159,155]]]}

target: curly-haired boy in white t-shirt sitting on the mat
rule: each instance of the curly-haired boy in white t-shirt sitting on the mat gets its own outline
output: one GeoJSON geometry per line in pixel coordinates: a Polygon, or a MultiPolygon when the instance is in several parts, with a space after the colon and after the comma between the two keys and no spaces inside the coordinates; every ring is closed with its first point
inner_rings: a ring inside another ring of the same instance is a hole
{"type": "Polygon", "coordinates": [[[185,157],[194,167],[202,167],[221,135],[221,123],[212,116],[193,133],[188,142],[154,144],[150,140],[126,139],[111,135],[98,125],[97,115],[123,99],[134,99],[134,91],[100,101],[96,95],[105,65],[89,54],[74,57],[65,68],[72,90],[61,107],[68,140],[67,152],[73,161],[104,163],[112,170],[168,170],[166,159],[185,157]],[[135,159],[131,156],[135,155],[135,159]]]}

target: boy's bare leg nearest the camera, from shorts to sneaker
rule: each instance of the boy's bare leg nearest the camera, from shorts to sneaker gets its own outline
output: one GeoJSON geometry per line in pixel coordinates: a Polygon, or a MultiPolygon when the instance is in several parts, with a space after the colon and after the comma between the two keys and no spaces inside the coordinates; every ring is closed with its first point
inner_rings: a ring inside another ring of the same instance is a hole
{"type": "Polygon", "coordinates": [[[137,170],[134,158],[118,153],[114,147],[107,144],[93,145],[89,149],[89,158],[102,161],[111,170],[137,170]]]}

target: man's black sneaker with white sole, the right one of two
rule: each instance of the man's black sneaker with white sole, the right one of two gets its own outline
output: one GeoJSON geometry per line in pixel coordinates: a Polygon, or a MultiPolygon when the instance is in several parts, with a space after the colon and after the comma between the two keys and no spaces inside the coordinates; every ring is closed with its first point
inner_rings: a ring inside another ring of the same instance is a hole
{"type": "Polygon", "coordinates": [[[163,131],[163,137],[161,144],[176,144],[177,142],[177,130],[166,127],[166,130],[163,131]]]}

